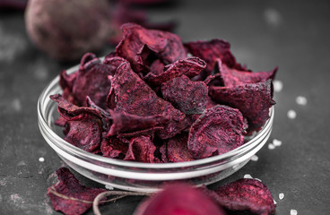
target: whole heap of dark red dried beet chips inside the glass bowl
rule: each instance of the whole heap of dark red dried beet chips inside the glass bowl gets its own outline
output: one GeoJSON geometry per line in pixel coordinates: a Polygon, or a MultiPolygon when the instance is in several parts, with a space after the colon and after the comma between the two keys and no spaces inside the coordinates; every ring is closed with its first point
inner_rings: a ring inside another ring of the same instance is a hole
{"type": "Polygon", "coordinates": [[[253,73],[221,39],[183,44],[178,35],[127,23],[116,50],[83,56],[60,74],[56,125],[65,141],[113,159],[204,159],[244,144],[269,118],[277,68],[253,73]]]}

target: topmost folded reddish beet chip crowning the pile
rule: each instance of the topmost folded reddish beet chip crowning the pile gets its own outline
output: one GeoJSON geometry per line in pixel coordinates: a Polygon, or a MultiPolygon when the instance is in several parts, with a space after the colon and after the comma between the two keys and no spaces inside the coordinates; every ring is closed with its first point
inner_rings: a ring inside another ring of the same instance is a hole
{"type": "Polygon", "coordinates": [[[116,47],[117,56],[126,58],[140,73],[144,60],[154,53],[164,64],[171,64],[187,57],[178,35],[161,30],[147,30],[134,23],[122,25],[123,39],[116,47]],[[149,51],[148,51],[149,50],[149,51]]]}

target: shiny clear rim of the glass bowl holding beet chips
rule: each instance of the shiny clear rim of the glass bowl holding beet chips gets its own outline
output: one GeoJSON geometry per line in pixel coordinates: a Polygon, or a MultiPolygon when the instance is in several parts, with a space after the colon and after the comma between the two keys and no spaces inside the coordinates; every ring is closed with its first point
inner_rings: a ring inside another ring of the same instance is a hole
{"type": "MultiPolygon", "coordinates": [[[[74,71],[77,70],[79,65],[76,65],[70,69],[67,70],[67,73],[74,73],[74,71]]],[[[75,147],[69,142],[66,142],[63,138],[58,136],[52,128],[48,125],[48,119],[46,117],[46,111],[48,111],[47,107],[49,102],[55,102],[49,99],[50,95],[60,93],[61,90],[59,90],[59,75],[56,76],[55,79],[53,79],[51,82],[48,83],[48,85],[45,87],[45,89],[41,92],[38,100],[38,119],[39,119],[39,127],[40,130],[43,130],[48,137],[52,140],[53,143],[56,144],[57,147],[59,147],[61,150],[65,150],[67,153],[74,154],[75,156],[81,157],[83,159],[91,159],[94,161],[104,162],[105,164],[109,165],[115,165],[120,166],[123,168],[148,168],[148,169],[160,169],[160,168],[194,168],[196,166],[203,166],[207,165],[208,163],[213,163],[220,160],[226,160],[230,159],[231,157],[236,157],[241,153],[244,153],[245,150],[256,147],[258,140],[260,138],[263,138],[263,135],[271,129],[270,126],[273,124],[274,119],[274,106],[270,108],[270,117],[265,122],[265,125],[263,128],[256,133],[256,136],[254,136],[251,140],[240,146],[239,148],[235,150],[230,150],[227,153],[216,155],[213,157],[205,158],[205,159],[195,159],[192,161],[185,161],[185,162],[177,162],[177,163],[142,163],[142,162],[135,162],[135,161],[126,161],[121,159],[110,159],[107,157],[102,157],[100,155],[93,154],[91,152],[87,152],[85,150],[79,149],[78,147],[75,147]],[[53,88],[56,88],[57,90],[53,90],[53,88]]]]}

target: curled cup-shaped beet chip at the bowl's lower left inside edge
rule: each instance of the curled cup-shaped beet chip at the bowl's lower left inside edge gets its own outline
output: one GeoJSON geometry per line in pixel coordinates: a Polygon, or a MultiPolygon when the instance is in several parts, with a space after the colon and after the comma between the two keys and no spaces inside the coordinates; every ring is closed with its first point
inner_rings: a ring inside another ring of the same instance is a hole
{"type": "Polygon", "coordinates": [[[79,120],[66,121],[65,141],[95,153],[100,149],[102,123],[98,117],[85,114],[81,116],[79,120]]]}

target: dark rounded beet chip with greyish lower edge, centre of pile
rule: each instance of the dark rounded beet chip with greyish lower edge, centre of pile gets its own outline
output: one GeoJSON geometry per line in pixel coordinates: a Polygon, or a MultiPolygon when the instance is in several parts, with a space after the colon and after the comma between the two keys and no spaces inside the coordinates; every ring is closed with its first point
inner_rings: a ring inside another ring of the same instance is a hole
{"type": "Polygon", "coordinates": [[[161,84],[165,100],[186,115],[202,114],[207,105],[208,89],[204,82],[192,82],[181,75],[161,84]]]}

